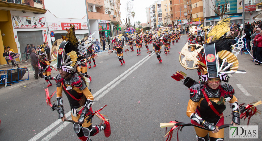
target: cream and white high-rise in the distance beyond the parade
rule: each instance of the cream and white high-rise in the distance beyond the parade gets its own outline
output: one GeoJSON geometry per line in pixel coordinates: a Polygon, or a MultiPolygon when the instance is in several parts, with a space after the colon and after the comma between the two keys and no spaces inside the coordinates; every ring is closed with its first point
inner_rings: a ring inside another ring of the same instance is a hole
{"type": "MultiPolygon", "coordinates": [[[[164,17],[171,15],[169,0],[155,1],[145,9],[147,21],[149,22],[150,27],[153,26],[152,28],[164,27],[164,17]]],[[[171,20],[169,22],[171,23],[171,20]]]]}

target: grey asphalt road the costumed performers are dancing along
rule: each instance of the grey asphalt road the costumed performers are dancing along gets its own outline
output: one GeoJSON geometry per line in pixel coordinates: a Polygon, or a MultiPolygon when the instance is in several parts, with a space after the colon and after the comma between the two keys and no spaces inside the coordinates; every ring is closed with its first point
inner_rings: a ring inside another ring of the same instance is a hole
{"type": "MultiPolygon", "coordinates": [[[[128,56],[124,55],[123,66],[120,66],[116,54],[109,55],[107,52],[99,54],[95,59],[96,67],[88,70],[88,74],[92,77],[89,87],[95,98],[92,109],[96,111],[107,105],[100,113],[108,115],[111,136],[106,138],[101,132],[91,137],[93,141],[163,140],[165,128],[160,128],[160,122],[167,123],[174,120],[190,122],[190,118],[186,115],[189,90],[183,86],[183,82],[177,82],[170,77],[178,70],[195,80],[198,79],[196,70],[185,70],[178,62],[178,52],[181,51],[186,40],[187,36],[183,35],[178,43],[171,45],[167,56],[161,53],[163,63],[158,63],[155,55],[148,56],[145,47],[141,48],[140,56],[130,51],[127,53],[128,56]]],[[[130,50],[128,46],[125,48],[130,50]]],[[[149,45],[149,48],[152,51],[152,45],[149,45]]],[[[247,71],[245,74],[234,74],[230,78],[230,84],[235,90],[239,103],[262,100],[260,75],[262,65],[255,66],[255,63],[249,60],[251,57],[246,54],[239,54],[238,59],[239,69],[247,71]],[[239,87],[244,88],[246,90],[244,93],[251,96],[246,96],[236,84],[241,84],[242,87],[239,87]]],[[[72,123],[58,120],[58,113],[51,111],[46,105],[44,88],[47,83],[43,78],[35,80],[32,69],[29,69],[31,73],[29,81],[21,81],[0,89],[2,121],[0,141],[78,141],[72,123]]],[[[51,76],[55,77],[57,74],[57,71],[52,70],[51,76]]],[[[51,82],[53,86],[49,87],[50,93],[56,90],[56,82],[54,80],[51,82]]],[[[51,101],[56,100],[55,97],[51,101]]],[[[226,105],[225,116],[231,114],[229,104],[226,105]]],[[[258,109],[262,109],[262,106],[258,106],[258,109]]],[[[65,97],[64,110],[70,111],[65,97]]],[[[225,124],[230,124],[231,119],[232,116],[226,117],[225,124]]],[[[261,115],[254,115],[249,123],[249,125],[258,125],[258,139],[230,139],[229,128],[226,128],[225,140],[261,140],[261,119],[261,115]]],[[[93,120],[93,125],[95,124],[100,124],[97,117],[93,120]]],[[[246,124],[247,120],[242,119],[241,125],[246,124]]],[[[176,140],[175,133],[172,140],[176,140]]],[[[179,140],[197,140],[194,128],[184,127],[183,132],[179,133],[179,140]]]]}

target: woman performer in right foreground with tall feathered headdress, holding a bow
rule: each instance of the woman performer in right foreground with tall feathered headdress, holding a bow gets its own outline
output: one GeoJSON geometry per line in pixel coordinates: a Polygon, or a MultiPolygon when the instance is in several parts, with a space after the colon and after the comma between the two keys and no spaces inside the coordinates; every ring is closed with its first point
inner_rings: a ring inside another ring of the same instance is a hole
{"type": "MultiPolygon", "coordinates": [[[[244,117],[249,117],[248,119],[250,119],[256,113],[256,110],[252,112],[252,109],[256,109],[255,106],[261,104],[260,101],[250,106],[238,105],[233,87],[227,84],[229,81],[228,73],[245,73],[243,70],[237,71],[237,57],[230,52],[232,40],[223,36],[225,32],[230,31],[229,23],[230,18],[224,18],[219,21],[212,28],[213,31],[211,30],[211,33],[206,36],[207,44],[204,47],[200,47],[199,50],[184,53],[183,50],[187,50],[188,47],[188,44],[186,44],[181,51],[186,58],[190,58],[192,55],[195,56],[194,54],[197,52],[200,61],[193,57],[193,67],[196,63],[203,73],[199,79],[201,83],[186,77],[186,74],[183,72],[176,72],[176,75],[171,76],[177,81],[185,79],[184,85],[190,90],[187,116],[191,119],[191,124],[178,121],[171,121],[171,123],[174,123],[174,127],[194,126],[198,141],[223,141],[225,127],[239,125],[240,119],[244,117]],[[199,54],[201,49],[204,49],[204,57],[199,54]],[[221,81],[227,83],[221,83],[221,81]],[[230,103],[232,110],[230,125],[224,125],[223,111],[226,109],[225,102],[227,101],[230,103]],[[239,107],[241,107],[241,110],[239,110],[239,107]],[[249,110],[251,111],[250,113],[244,112],[249,110]]],[[[181,58],[179,57],[179,59],[181,58]]],[[[181,65],[185,69],[187,68],[184,63],[181,63],[181,65]]],[[[171,130],[168,133],[168,137],[172,136],[174,128],[171,130]]]]}

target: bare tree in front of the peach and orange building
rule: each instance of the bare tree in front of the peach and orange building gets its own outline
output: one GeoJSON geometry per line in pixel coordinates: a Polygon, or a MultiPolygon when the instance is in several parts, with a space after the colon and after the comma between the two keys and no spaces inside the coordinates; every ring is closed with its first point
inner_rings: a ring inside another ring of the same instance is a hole
{"type": "MultiPolygon", "coordinates": [[[[104,0],[94,0],[95,3],[97,5],[101,5],[97,8],[103,10],[106,12],[106,14],[109,15],[109,19],[110,19],[110,24],[111,24],[111,33],[113,34],[113,25],[112,25],[112,22],[111,22],[111,12],[112,12],[112,8],[113,8],[113,2],[114,0],[110,0],[110,1],[104,1],[104,0]],[[106,2],[106,3],[105,3],[106,2]]],[[[112,35],[113,36],[113,35],[112,35]]]]}

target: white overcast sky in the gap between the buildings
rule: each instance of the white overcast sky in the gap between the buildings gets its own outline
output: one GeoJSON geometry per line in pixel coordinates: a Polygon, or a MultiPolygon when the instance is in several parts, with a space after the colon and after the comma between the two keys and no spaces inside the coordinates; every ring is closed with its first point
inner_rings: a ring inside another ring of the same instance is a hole
{"type": "MultiPolygon", "coordinates": [[[[149,7],[151,4],[153,4],[156,0],[120,0],[121,5],[120,5],[120,10],[121,10],[121,20],[122,24],[124,23],[124,20],[126,18],[125,12],[126,12],[126,5],[129,2],[133,4],[134,7],[134,12],[135,12],[135,21],[140,21],[141,23],[147,23],[146,20],[146,7],[149,7]],[[130,1],[130,2],[129,2],[130,1]],[[124,20],[123,20],[124,19],[124,20]]],[[[134,23],[133,17],[131,18],[131,22],[134,23]]]]}

